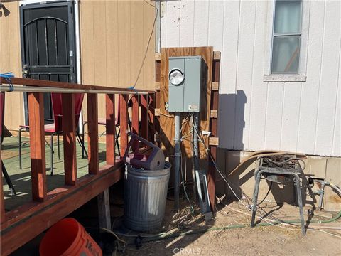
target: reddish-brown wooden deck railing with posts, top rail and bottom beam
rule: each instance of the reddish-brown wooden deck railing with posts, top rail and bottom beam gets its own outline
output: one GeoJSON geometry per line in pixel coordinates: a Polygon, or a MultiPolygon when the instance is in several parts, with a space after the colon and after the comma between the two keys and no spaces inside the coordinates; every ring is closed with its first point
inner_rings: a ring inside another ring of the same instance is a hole
{"type": "MultiPolygon", "coordinates": [[[[11,78],[16,91],[28,92],[28,117],[30,124],[31,186],[32,201],[9,212],[5,212],[2,178],[1,205],[1,255],[9,255],[21,245],[49,228],[58,220],[72,213],[84,203],[102,193],[123,177],[123,163],[115,160],[115,94],[119,94],[121,155],[128,144],[126,130],[129,124],[128,100],[132,98],[131,127],[146,139],[153,138],[154,93],[146,90],[129,90],[94,85],[78,85],[24,78],[11,78]],[[30,89],[31,88],[31,89],[30,89]],[[34,90],[33,90],[34,89],[34,90]],[[30,92],[31,90],[31,92],[30,92]],[[88,122],[88,174],[77,178],[75,115],[63,114],[63,144],[65,186],[47,191],[45,169],[45,133],[43,117],[43,92],[63,92],[63,113],[75,112],[75,97],[70,92],[87,93],[88,122]],[[37,92],[38,91],[38,92],[37,92]],[[106,164],[99,167],[98,146],[98,93],[106,94],[106,164]],[[130,95],[130,96],[129,96],[130,95]],[[140,106],[139,106],[140,105],[140,106]],[[141,107],[141,115],[139,108],[141,107]],[[139,131],[141,117],[141,131],[139,131]],[[151,128],[151,129],[150,129],[151,128]]],[[[7,82],[1,78],[1,91],[8,91],[7,82]]],[[[10,111],[6,111],[6,114],[10,111]]],[[[139,145],[134,145],[134,151],[139,145]]],[[[1,150],[0,150],[1,158],[1,150]]],[[[1,167],[0,167],[1,168],[1,167]]],[[[11,170],[8,170],[11,174],[11,170]]]]}

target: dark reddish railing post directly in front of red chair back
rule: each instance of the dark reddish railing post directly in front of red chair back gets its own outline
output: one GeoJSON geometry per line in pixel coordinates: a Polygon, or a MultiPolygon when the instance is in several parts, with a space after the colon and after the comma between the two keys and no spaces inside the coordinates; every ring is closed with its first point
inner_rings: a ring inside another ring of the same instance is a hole
{"type": "Polygon", "coordinates": [[[62,93],[62,110],[65,185],[75,185],[77,183],[77,155],[74,94],[62,93]]]}

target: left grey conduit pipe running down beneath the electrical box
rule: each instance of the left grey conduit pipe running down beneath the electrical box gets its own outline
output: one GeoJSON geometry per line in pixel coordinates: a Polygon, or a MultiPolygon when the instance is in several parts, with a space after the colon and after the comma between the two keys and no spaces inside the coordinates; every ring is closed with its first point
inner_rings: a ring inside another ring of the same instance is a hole
{"type": "Polygon", "coordinates": [[[175,112],[175,134],[174,134],[174,209],[180,208],[180,112],[175,112]]]}

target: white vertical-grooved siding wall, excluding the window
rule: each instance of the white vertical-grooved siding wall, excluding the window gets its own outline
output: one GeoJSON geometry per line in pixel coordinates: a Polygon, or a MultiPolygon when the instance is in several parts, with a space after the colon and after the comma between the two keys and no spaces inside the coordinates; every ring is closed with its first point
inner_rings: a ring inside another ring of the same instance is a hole
{"type": "Polygon", "coordinates": [[[260,0],[161,2],[161,47],[222,52],[220,147],[341,156],[341,1],[310,2],[306,82],[263,81],[268,11],[260,0]]]}

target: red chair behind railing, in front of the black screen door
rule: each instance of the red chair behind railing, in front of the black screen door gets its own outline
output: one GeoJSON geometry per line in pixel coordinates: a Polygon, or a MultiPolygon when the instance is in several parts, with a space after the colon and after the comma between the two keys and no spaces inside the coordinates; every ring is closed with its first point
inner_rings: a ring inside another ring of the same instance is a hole
{"type": "MultiPolygon", "coordinates": [[[[62,94],[61,93],[51,93],[52,98],[52,108],[53,108],[53,124],[45,124],[44,131],[45,135],[50,135],[50,161],[51,161],[51,175],[53,175],[53,137],[58,135],[58,158],[60,159],[60,143],[59,143],[59,136],[63,134],[62,130],[62,117],[63,117],[63,107],[62,107],[62,94]]],[[[83,102],[84,94],[82,93],[75,93],[75,127],[77,127],[78,120],[80,119],[80,112],[82,110],[82,102],[83,102]]],[[[21,164],[21,131],[23,129],[29,130],[28,125],[21,125],[19,129],[19,165],[20,169],[22,169],[21,164]]],[[[77,132],[77,139],[80,142],[82,148],[84,148],[84,144],[82,139],[80,138],[80,134],[77,132]]]]}

